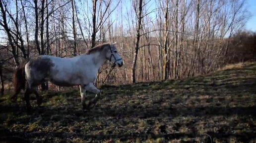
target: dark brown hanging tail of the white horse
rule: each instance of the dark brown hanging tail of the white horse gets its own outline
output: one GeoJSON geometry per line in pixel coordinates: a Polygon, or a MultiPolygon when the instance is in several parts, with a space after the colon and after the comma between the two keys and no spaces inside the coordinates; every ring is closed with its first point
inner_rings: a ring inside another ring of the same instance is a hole
{"type": "Polygon", "coordinates": [[[15,94],[11,97],[12,100],[17,100],[17,95],[21,89],[25,88],[26,78],[25,78],[25,65],[28,63],[29,59],[25,59],[18,66],[18,68],[13,73],[13,84],[15,94]]]}

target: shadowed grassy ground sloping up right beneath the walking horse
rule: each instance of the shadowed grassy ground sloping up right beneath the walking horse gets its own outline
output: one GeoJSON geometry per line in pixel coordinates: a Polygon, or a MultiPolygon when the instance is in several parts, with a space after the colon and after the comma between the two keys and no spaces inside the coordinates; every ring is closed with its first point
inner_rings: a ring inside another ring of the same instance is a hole
{"type": "MultiPolygon", "coordinates": [[[[6,143],[255,143],[256,63],[187,79],[103,86],[83,111],[78,90],[42,93],[32,113],[1,97],[6,143]]],[[[89,97],[92,98],[93,95],[89,97]]],[[[19,96],[21,97],[21,96],[19,96]]]]}

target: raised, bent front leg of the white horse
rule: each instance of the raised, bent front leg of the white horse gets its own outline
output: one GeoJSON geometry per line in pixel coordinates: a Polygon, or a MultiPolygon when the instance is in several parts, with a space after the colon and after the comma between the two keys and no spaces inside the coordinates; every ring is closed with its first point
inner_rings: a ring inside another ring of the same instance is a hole
{"type": "Polygon", "coordinates": [[[98,88],[96,88],[92,83],[87,84],[85,86],[85,89],[96,94],[96,96],[92,100],[90,100],[87,105],[87,108],[90,109],[90,108],[94,107],[96,105],[97,101],[99,100],[100,90],[98,88]]]}

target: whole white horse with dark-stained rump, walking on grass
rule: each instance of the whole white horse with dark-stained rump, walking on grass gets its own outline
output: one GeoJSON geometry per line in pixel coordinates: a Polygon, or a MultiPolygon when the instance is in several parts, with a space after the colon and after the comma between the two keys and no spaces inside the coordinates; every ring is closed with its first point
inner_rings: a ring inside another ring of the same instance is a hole
{"type": "Polygon", "coordinates": [[[42,97],[39,96],[37,86],[50,81],[58,86],[76,86],[79,85],[81,103],[83,109],[94,107],[99,100],[101,91],[94,86],[97,78],[96,73],[106,60],[113,63],[113,66],[122,67],[123,59],[120,57],[115,43],[104,43],[95,46],[84,54],[73,58],[60,58],[50,55],[40,55],[22,61],[13,74],[14,95],[13,101],[17,100],[20,90],[27,88],[24,93],[26,107],[31,108],[29,95],[34,93],[37,99],[37,105],[42,104],[42,97]],[[95,97],[89,101],[86,106],[85,91],[95,93],[95,97]]]}

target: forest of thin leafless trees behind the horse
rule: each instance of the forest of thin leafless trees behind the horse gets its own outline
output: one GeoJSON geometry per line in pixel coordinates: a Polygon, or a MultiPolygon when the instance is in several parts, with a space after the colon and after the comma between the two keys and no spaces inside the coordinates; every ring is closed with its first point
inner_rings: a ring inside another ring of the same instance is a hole
{"type": "Polygon", "coordinates": [[[26,58],[69,58],[106,42],[118,43],[124,66],[111,70],[107,62],[97,85],[185,78],[255,61],[256,33],[244,29],[250,16],[246,0],[0,0],[1,94],[26,58]]]}

